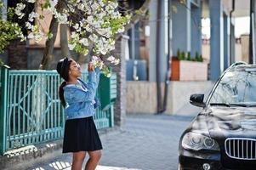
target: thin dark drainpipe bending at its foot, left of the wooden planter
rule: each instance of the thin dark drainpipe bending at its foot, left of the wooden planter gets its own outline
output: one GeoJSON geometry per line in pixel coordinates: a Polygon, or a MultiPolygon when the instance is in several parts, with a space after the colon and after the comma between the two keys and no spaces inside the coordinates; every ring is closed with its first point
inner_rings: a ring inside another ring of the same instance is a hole
{"type": "Polygon", "coordinates": [[[166,111],[166,108],[167,108],[167,100],[168,100],[168,85],[169,85],[169,76],[170,76],[170,73],[171,73],[171,70],[170,70],[170,55],[171,55],[171,47],[170,47],[170,43],[171,43],[171,40],[170,40],[170,35],[171,35],[171,32],[170,32],[170,28],[171,28],[171,9],[170,9],[170,6],[171,6],[171,1],[169,0],[168,1],[168,59],[167,59],[167,72],[166,72],[166,77],[165,77],[165,86],[164,86],[164,97],[163,97],[163,107],[162,107],[162,112],[166,111]]]}

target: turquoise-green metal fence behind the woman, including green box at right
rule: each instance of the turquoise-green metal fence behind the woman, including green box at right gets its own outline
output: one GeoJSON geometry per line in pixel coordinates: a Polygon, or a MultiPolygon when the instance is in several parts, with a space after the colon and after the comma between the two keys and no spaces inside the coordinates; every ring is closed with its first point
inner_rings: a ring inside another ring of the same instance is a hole
{"type": "MultiPolygon", "coordinates": [[[[65,116],[60,105],[56,71],[9,70],[2,67],[0,77],[0,154],[29,144],[63,137],[65,116]]],[[[87,73],[82,73],[86,81],[87,73]]],[[[112,94],[117,93],[117,77],[100,78],[97,96],[100,107],[94,115],[96,127],[113,127],[112,94]],[[102,89],[102,88],[108,89],[102,89]],[[104,91],[103,91],[104,90],[104,91]],[[109,95],[111,99],[105,97],[109,95]],[[107,103],[107,107],[105,103],[107,103]]]]}

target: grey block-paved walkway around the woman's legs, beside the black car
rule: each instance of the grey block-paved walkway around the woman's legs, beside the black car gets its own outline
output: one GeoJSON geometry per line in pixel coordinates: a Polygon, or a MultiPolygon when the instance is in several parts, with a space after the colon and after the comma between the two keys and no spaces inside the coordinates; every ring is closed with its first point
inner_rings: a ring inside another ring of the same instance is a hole
{"type": "MultiPolygon", "coordinates": [[[[100,136],[104,150],[97,170],[176,170],[179,137],[191,119],[191,116],[128,116],[121,131],[100,136]]],[[[61,155],[30,169],[71,169],[71,155],[61,155]]]]}

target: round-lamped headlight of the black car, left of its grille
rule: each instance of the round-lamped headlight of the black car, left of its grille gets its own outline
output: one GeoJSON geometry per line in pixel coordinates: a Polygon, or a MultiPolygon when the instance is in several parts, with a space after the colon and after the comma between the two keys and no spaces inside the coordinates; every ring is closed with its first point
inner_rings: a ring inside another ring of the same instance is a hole
{"type": "Polygon", "coordinates": [[[186,133],[182,147],[188,150],[219,150],[219,144],[214,139],[199,133],[186,133]]]}

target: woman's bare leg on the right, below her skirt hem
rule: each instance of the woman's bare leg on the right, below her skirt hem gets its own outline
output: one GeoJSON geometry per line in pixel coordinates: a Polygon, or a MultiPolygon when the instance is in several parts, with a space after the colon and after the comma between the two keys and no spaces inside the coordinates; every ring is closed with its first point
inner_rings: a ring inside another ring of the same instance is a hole
{"type": "Polygon", "coordinates": [[[98,162],[100,161],[101,157],[101,150],[94,150],[94,151],[88,151],[88,155],[90,156],[86,165],[85,165],[85,170],[94,170],[98,162]]]}

